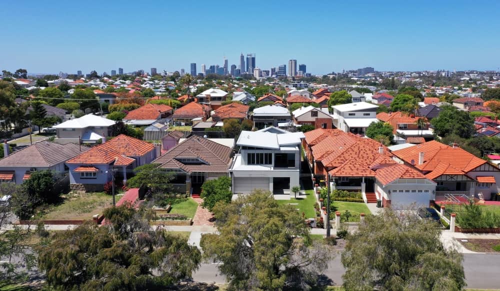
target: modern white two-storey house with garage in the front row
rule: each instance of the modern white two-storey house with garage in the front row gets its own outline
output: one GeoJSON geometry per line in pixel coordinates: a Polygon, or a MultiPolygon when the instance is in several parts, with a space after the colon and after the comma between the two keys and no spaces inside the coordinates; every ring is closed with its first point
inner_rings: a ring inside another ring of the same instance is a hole
{"type": "Polygon", "coordinates": [[[302,132],[287,132],[275,127],[242,131],[240,147],[229,168],[234,194],[263,189],[274,194],[289,194],[299,186],[302,132]]]}

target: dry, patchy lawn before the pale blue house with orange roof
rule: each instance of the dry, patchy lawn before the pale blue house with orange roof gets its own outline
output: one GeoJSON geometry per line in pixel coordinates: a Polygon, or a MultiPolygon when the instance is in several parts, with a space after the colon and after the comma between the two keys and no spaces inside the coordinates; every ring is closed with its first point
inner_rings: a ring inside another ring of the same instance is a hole
{"type": "MultiPolygon", "coordinates": [[[[94,214],[102,214],[111,207],[113,198],[105,193],[67,194],[57,205],[42,206],[36,217],[57,220],[91,220],[94,214]]],[[[116,199],[117,201],[118,199],[116,199]]]]}

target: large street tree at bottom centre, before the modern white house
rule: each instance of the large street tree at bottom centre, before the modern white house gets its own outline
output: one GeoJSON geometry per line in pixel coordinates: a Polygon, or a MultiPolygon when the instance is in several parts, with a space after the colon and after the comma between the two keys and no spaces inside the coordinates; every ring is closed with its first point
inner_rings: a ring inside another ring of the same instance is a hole
{"type": "Polygon", "coordinates": [[[213,214],[217,234],[202,235],[200,245],[205,258],[222,263],[231,290],[306,290],[327,268],[330,253],[319,244],[307,248],[303,218],[268,191],[217,203],[213,214]]]}

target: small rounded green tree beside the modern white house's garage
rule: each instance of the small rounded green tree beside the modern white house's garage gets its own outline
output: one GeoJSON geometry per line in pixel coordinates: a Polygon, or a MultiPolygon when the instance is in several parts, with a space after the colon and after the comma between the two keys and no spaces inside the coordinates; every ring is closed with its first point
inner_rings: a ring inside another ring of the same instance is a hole
{"type": "Polygon", "coordinates": [[[203,198],[202,206],[210,211],[219,201],[231,202],[231,178],[221,176],[217,179],[206,180],[201,186],[200,197],[203,198]]]}

